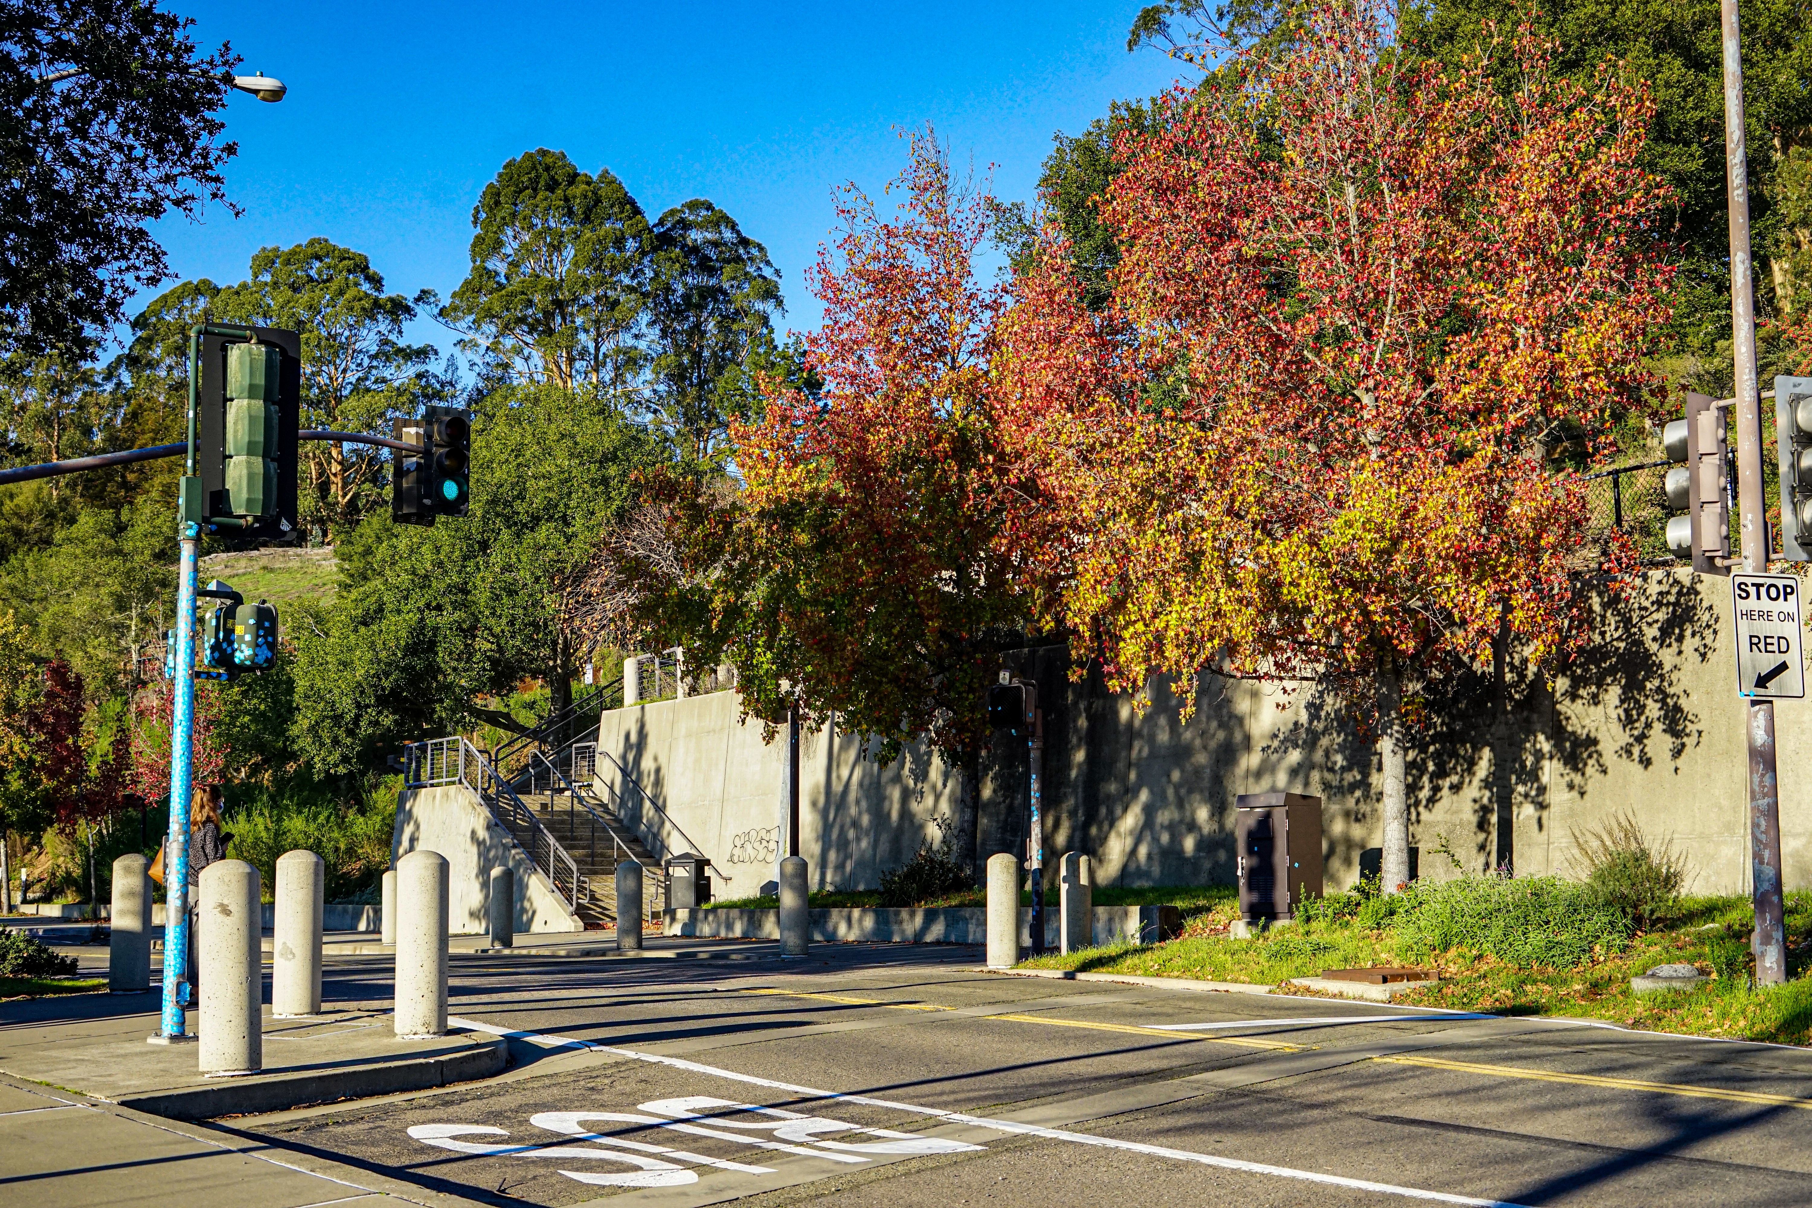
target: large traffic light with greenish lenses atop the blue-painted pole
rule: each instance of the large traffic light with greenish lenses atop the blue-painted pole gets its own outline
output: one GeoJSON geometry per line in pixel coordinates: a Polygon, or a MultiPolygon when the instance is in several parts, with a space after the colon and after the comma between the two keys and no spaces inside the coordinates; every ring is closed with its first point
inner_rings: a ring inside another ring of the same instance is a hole
{"type": "Polygon", "coordinates": [[[295,532],[303,344],[281,328],[205,328],[196,382],[201,516],[225,536],[295,532]]]}

